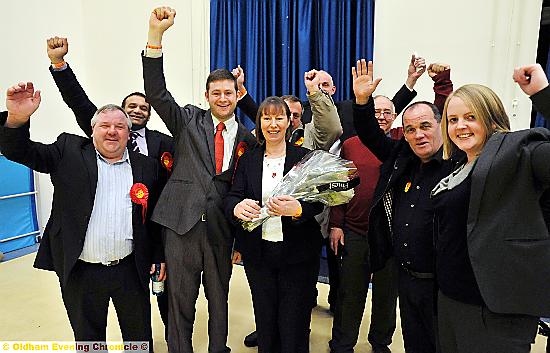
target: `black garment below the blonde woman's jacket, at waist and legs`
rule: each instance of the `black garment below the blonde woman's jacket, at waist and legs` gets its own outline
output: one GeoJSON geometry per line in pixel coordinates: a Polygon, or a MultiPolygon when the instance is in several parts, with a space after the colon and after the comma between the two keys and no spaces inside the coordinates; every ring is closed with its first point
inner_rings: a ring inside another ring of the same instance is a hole
{"type": "Polygon", "coordinates": [[[439,291],[439,343],[443,353],[528,353],[538,318],[497,314],[485,306],[461,303],[439,291]]]}

